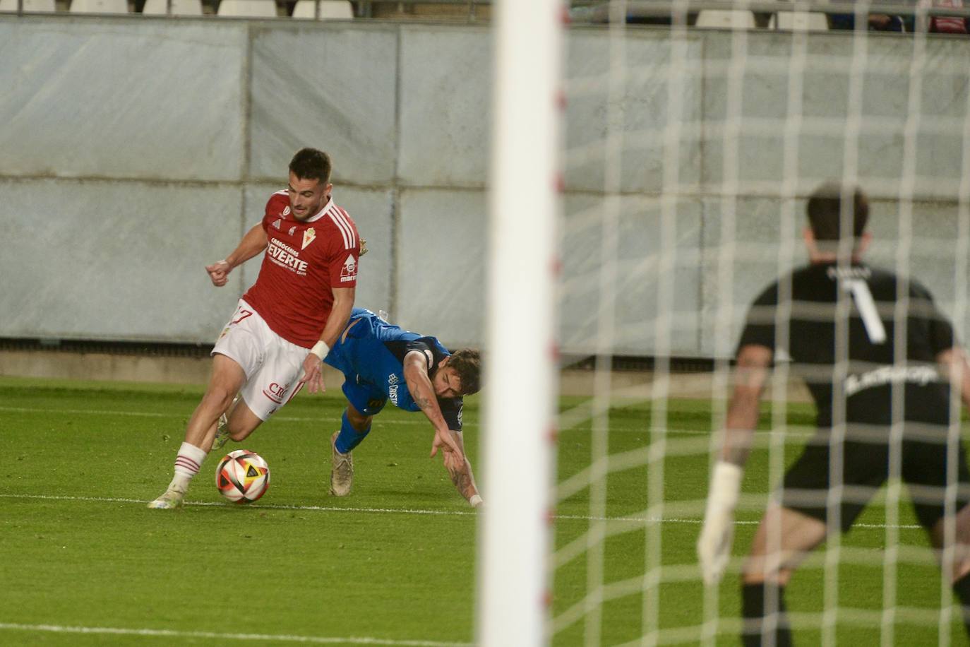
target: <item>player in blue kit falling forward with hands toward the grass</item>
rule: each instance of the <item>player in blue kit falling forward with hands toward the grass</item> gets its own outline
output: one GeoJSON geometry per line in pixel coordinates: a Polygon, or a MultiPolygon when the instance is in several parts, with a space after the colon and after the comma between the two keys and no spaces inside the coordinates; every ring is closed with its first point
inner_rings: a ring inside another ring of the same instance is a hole
{"type": "MultiPolygon", "coordinates": [[[[440,449],[458,492],[472,506],[481,504],[462,442],[462,399],[480,387],[477,351],[466,348],[451,353],[434,337],[403,330],[371,310],[355,307],[324,362],[343,373],[347,398],[340,429],[330,439],[331,494],[350,494],[351,451],[371,432],[373,416],[390,401],[427,416],[435,429],[431,455],[440,449]]],[[[228,437],[220,431],[218,446],[228,437]]]]}

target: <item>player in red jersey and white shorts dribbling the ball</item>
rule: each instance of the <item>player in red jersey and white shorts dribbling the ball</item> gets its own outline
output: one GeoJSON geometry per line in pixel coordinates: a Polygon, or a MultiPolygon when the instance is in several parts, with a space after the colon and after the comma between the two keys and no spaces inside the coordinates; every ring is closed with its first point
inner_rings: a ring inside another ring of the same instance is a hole
{"type": "Polygon", "coordinates": [[[221,287],[234,268],[266,251],[256,282],[212,348],[209,388],[185,429],[175,477],[148,507],[182,504],[220,428],[223,436],[248,435],[304,384],[310,393],[323,390],[323,358],[350,318],[362,245],[331,197],[330,170],[326,153],[298,151],[289,186],[273,194],[262,222],[206,268],[221,287]]]}

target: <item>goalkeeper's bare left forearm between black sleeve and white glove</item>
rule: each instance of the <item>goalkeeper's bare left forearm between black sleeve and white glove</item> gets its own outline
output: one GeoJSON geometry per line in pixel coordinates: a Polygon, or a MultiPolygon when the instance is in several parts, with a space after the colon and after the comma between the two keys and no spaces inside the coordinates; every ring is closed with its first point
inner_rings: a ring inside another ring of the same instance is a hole
{"type": "Polygon", "coordinates": [[[734,370],[734,391],[727,405],[724,445],[721,459],[744,467],[751,452],[751,441],[758,426],[761,391],[771,364],[771,350],[747,345],[738,352],[734,370]]]}

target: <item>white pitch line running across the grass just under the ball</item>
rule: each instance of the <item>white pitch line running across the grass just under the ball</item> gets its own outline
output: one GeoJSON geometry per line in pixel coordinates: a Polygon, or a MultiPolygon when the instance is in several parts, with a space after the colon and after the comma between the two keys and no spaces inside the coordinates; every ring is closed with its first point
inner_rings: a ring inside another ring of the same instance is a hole
{"type": "MultiPolygon", "coordinates": [[[[66,497],[53,495],[10,495],[0,494],[0,499],[44,499],[49,501],[101,501],[106,503],[147,503],[141,499],[114,499],[109,497],[66,497]]],[[[185,501],[185,505],[218,505],[220,507],[232,507],[231,503],[221,501],[185,501]]],[[[476,516],[477,512],[465,510],[422,510],[420,508],[393,508],[393,507],[339,507],[335,505],[280,505],[275,503],[251,503],[246,507],[271,510],[307,510],[318,512],[372,512],[377,514],[431,514],[441,516],[476,516]]],[[[556,519],[568,519],[572,521],[629,521],[631,523],[664,523],[664,524],[700,524],[702,519],[676,519],[672,517],[592,517],[580,514],[557,514],[556,519]]],[[[757,520],[735,520],[738,526],[754,526],[759,524],[757,520]]],[[[902,530],[919,530],[922,526],[917,524],[902,524],[898,526],[887,526],[886,524],[854,524],[853,528],[897,528],[902,530]]]]}

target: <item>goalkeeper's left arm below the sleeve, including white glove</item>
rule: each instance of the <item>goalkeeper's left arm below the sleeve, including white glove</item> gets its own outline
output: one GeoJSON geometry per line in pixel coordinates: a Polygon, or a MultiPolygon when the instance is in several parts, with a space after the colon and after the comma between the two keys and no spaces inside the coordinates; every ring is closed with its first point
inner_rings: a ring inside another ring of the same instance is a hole
{"type": "Polygon", "coordinates": [[[721,580],[734,538],[734,508],[741,492],[741,475],[751,452],[758,425],[759,403],[771,350],[759,345],[743,346],[737,355],[734,392],[727,407],[724,444],[711,473],[704,525],[697,538],[697,560],[704,582],[721,580]]]}

